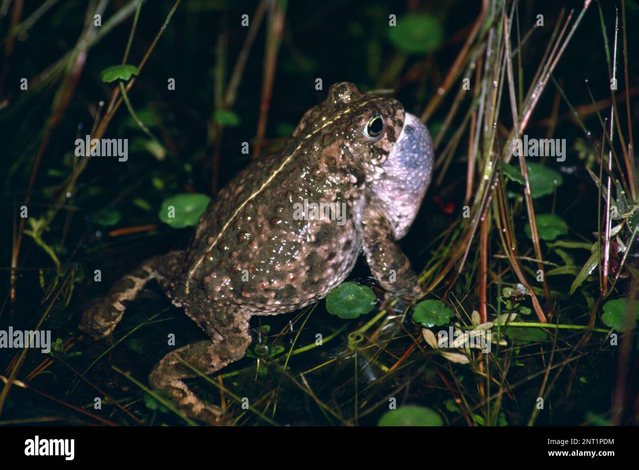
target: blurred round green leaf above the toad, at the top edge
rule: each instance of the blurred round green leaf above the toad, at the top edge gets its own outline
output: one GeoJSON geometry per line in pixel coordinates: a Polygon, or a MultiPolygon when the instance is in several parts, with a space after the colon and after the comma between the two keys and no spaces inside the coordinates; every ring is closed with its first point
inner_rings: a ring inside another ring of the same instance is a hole
{"type": "Polygon", "coordinates": [[[389,40],[408,54],[428,54],[442,45],[443,28],[430,15],[409,15],[390,27],[389,40]]]}

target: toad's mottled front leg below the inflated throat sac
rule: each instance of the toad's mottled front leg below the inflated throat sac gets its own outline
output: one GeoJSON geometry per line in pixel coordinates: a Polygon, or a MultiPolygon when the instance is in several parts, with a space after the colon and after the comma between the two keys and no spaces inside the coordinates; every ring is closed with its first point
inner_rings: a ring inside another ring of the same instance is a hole
{"type": "Polygon", "coordinates": [[[374,204],[366,204],[357,229],[371,273],[394,296],[417,299],[424,292],[395,239],[392,225],[374,204]]]}

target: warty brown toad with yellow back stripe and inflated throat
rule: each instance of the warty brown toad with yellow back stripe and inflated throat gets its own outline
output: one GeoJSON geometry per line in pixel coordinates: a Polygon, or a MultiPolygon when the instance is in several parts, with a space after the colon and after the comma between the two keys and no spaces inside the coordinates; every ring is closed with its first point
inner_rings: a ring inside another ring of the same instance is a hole
{"type": "Polygon", "coordinates": [[[189,416],[213,422],[219,410],[189,390],[183,379],[197,374],[183,362],[213,374],[242,358],[252,315],[284,314],[324,298],[362,251],[386,291],[420,296],[397,240],[412,224],[432,171],[431,138],[417,117],[392,98],[335,84],[281,153],[250,163],[220,190],[187,250],[153,257],[116,282],[80,328],[108,335],[123,302],[156,279],[211,339],[167,354],[150,384],[189,416]]]}

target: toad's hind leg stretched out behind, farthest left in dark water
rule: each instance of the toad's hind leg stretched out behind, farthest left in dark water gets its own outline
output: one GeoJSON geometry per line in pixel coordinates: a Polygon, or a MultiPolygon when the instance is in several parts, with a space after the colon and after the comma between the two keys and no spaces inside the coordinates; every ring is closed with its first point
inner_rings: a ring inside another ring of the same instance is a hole
{"type": "Polygon", "coordinates": [[[111,287],[107,298],[89,307],[80,321],[80,330],[94,338],[105,337],[116,328],[124,315],[126,306],[123,302],[133,300],[151,279],[157,280],[162,287],[167,284],[173,269],[183,259],[182,251],[150,258],[134,271],[119,278],[111,287]]]}

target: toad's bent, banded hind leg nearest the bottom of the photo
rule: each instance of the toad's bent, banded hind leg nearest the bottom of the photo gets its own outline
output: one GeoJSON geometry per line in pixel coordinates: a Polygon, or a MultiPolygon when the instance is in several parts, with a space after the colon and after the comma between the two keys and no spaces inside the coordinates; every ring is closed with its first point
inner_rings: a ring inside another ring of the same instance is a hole
{"type": "Polygon", "coordinates": [[[230,317],[233,318],[232,325],[203,326],[216,339],[198,341],[169,352],[153,367],[149,375],[151,387],[166,391],[180,411],[210,424],[217,422],[220,409],[197,398],[183,379],[198,377],[200,374],[194,369],[201,374],[210,375],[243,358],[251,340],[250,315],[237,309],[231,312],[230,317]]]}

